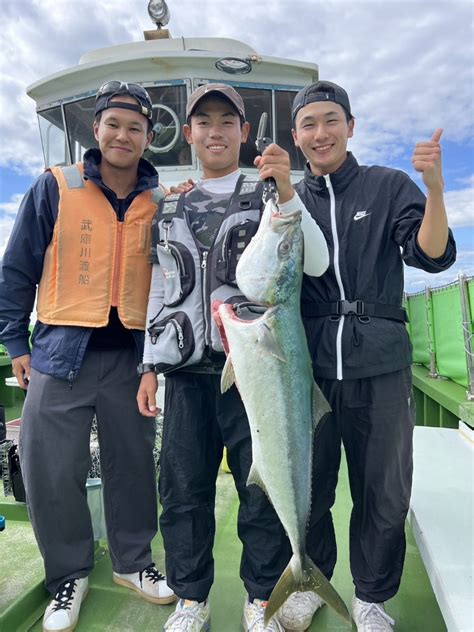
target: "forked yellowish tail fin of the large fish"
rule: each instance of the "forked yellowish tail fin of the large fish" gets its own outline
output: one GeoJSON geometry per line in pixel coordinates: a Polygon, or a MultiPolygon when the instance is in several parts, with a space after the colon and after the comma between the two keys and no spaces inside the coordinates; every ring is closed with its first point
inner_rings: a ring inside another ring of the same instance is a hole
{"type": "Polygon", "coordinates": [[[270,619],[278,612],[291,594],[297,591],[313,591],[350,625],[351,615],[346,604],[319,568],[307,555],[302,560],[299,572],[297,571],[298,566],[298,557],[293,554],[290,563],[281,574],[270,595],[265,608],[264,624],[268,625],[270,619]]]}

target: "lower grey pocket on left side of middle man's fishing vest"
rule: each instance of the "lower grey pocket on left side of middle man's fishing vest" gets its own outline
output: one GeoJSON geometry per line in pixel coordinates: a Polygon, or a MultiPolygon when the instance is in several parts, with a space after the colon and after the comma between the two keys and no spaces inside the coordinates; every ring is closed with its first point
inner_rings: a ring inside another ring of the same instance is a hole
{"type": "Polygon", "coordinates": [[[194,352],[194,335],[191,321],[184,312],[174,312],[148,327],[151,343],[154,345],[153,357],[158,359],[158,373],[177,369],[194,352]]]}

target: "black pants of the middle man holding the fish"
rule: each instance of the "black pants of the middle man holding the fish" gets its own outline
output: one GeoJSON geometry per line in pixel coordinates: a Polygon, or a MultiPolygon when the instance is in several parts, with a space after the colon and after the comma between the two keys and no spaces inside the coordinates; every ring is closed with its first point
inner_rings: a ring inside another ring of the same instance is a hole
{"type": "Polygon", "coordinates": [[[182,372],[166,378],[159,487],[168,585],[179,597],[197,601],[206,599],[211,589],[223,446],[240,500],[240,576],[251,599],[268,599],[291,548],[265,494],[256,485],[247,487],[250,428],[235,386],[221,394],[220,375],[182,372]]]}

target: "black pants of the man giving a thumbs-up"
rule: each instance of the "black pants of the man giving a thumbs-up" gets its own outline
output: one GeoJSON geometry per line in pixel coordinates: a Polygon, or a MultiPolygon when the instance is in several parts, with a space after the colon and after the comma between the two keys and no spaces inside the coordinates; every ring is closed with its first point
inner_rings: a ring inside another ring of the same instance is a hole
{"type": "Polygon", "coordinates": [[[336,539],[331,516],[344,444],[353,501],[349,548],[355,594],[393,597],[405,559],[405,518],[413,471],[411,369],[359,380],[317,379],[332,407],[314,439],[308,554],[331,578],[336,539]]]}

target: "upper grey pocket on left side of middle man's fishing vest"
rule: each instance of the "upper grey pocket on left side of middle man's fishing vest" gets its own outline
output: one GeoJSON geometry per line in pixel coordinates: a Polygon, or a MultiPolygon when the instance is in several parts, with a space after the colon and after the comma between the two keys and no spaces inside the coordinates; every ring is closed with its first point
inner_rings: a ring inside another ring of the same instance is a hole
{"type": "Polygon", "coordinates": [[[194,288],[196,273],[193,256],[185,246],[175,241],[159,242],[156,254],[163,274],[163,303],[167,307],[174,307],[182,303],[194,288]]]}

